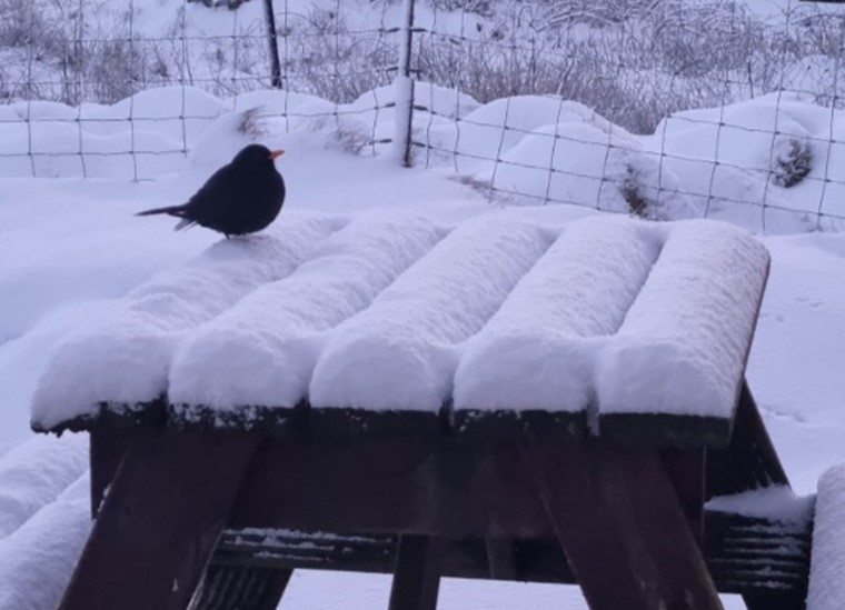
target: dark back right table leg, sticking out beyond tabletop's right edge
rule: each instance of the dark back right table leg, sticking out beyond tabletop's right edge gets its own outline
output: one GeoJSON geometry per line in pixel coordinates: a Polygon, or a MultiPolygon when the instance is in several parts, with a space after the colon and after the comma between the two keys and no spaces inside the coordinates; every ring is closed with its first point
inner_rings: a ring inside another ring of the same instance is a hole
{"type": "Polygon", "coordinates": [[[769,486],[788,486],[747,383],[739,393],[730,444],[707,454],[707,499],[769,486]]]}

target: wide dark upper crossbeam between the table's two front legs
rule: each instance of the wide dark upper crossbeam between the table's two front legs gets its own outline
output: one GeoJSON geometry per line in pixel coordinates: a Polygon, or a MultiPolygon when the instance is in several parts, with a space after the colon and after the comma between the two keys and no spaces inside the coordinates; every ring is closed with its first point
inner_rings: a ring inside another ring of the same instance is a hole
{"type": "Polygon", "coordinates": [[[269,439],[232,509],[232,528],[548,537],[516,447],[455,439],[269,439]]]}

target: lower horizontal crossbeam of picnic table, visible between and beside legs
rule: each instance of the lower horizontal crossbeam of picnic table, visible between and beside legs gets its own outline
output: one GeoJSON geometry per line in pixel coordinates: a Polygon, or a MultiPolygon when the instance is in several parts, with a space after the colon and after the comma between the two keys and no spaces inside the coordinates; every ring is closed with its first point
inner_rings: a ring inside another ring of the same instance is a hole
{"type": "MultiPolygon", "coordinates": [[[[811,522],[782,522],[706,511],[702,543],[718,591],[757,598],[806,597],[812,546],[811,522]]],[[[395,536],[335,536],[287,530],[226,530],[215,564],[308,568],[389,573],[395,536]]],[[[560,546],[554,539],[514,540],[515,574],[490,570],[487,543],[480,538],[449,540],[443,576],[455,578],[575,583],[560,546]]]]}

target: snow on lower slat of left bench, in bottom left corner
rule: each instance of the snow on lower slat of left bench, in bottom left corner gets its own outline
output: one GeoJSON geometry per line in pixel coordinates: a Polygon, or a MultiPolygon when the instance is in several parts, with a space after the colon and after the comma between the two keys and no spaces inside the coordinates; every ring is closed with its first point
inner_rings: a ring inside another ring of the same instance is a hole
{"type": "Polygon", "coordinates": [[[91,531],[90,481],[81,476],[59,498],[0,540],[0,610],[59,604],[91,531]]]}

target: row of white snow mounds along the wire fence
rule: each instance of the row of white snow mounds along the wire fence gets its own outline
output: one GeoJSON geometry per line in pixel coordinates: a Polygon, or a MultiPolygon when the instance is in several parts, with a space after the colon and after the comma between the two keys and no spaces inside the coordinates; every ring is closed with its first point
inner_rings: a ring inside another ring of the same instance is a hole
{"type": "MultiPolygon", "coordinates": [[[[845,118],[797,96],[682,111],[637,136],[558,96],[479,106],[454,89],[414,89],[415,163],[456,170],[505,201],[706,217],[766,233],[845,227],[845,118]]],[[[346,104],[163,87],[112,106],[14,103],[0,116],[0,177],[156,179],[198,167],[207,176],[251,141],[392,154],[395,102],[395,87],[346,104]]]]}

